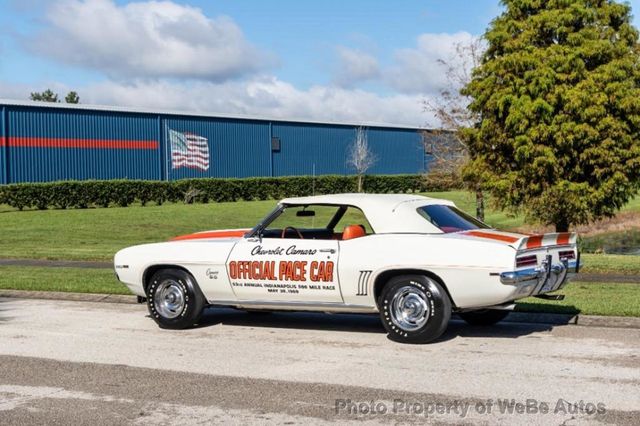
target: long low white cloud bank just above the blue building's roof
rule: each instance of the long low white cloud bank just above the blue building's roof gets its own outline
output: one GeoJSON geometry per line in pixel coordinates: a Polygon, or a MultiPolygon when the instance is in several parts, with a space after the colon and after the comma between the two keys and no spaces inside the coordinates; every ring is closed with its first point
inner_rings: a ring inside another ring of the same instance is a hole
{"type": "Polygon", "coordinates": [[[283,119],[434,125],[420,95],[382,96],[358,89],[313,86],[300,90],[275,77],[212,83],[108,81],[79,89],[84,103],[182,111],[260,115],[283,119]]]}

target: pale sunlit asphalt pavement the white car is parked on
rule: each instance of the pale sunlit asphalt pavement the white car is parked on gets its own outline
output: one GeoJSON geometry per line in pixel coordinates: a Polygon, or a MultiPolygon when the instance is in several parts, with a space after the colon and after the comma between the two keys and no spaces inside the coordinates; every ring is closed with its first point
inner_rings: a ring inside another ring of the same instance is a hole
{"type": "Polygon", "coordinates": [[[0,423],[637,424],[640,330],[452,321],[387,340],[373,316],[0,299],[0,423]],[[518,405],[520,404],[520,405],[518,405]]]}

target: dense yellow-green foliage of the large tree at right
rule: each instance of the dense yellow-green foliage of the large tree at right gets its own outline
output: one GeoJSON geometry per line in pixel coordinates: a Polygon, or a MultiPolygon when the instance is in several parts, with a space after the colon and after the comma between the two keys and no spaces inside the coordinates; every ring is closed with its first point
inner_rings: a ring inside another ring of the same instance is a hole
{"type": "Polygon", "coordinates": [[[502,208],[570,226],[611,217],[640,187],[640,49],[627,4],[503,0],[462,93],[475,176],[502,208]]]}

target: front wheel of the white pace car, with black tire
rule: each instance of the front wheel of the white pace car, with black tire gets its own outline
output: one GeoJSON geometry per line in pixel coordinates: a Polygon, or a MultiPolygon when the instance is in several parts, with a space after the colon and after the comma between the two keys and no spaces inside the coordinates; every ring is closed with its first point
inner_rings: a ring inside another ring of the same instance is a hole
{"type": "Polygon", "coordinates": [[[182,269],[161,269],[153,274],[147,286],[147,308],[160,328],[193,327],[205,304],[198,283],[182,269]],[[172,297],[175,303],[170,303],[172,297]]]}

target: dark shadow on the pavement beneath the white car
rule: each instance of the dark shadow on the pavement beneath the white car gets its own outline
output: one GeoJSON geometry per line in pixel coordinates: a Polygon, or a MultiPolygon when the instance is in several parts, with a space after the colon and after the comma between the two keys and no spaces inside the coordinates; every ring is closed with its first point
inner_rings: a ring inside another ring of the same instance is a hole
{"type": "MultiPolygon", "coordinates": [[[[245,312],[229,308],[209,308],[199,327],[218,324],[242,327],[269,327],[300,330],[327,330],[338,332],[379,333],[386,331],[375,314],[325,314],[315,312],[245,312]]],[[[532,333],[550,331],[551,324],[525,324],[501,322],[492,326],[471,326],[462,320],[452,319],[447,331],[437,342],[456,337],[517,338],[532,333]]]]}

